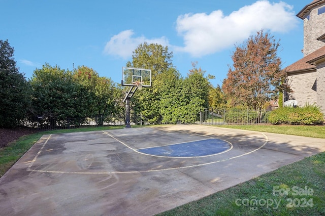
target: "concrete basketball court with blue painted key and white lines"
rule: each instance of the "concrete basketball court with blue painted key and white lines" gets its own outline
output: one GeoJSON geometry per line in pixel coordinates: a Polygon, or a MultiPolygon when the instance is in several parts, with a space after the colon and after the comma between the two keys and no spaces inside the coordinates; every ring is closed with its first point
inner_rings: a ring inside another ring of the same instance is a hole
{"type": "Polygon", "coordinates": [[[0,214],[153,215],[322,151],[324,139],[204,125],[44,135],[0,179],[0,214]]]}

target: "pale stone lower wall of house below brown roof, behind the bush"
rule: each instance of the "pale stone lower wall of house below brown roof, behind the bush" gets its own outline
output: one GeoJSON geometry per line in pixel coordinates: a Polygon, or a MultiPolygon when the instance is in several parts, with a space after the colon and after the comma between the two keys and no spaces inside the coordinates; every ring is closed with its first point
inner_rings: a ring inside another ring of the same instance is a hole
{"type": "Polygon", "coordinates": [[[317,93],[314,85],[316,79],[316,71],[288,75],[288,84],[291,90],[293,90],[293,93],[290,95],[298,101],[298,106],[301,107],[305,106],[306,103],[314,104],[317,102],[317,93]]]}

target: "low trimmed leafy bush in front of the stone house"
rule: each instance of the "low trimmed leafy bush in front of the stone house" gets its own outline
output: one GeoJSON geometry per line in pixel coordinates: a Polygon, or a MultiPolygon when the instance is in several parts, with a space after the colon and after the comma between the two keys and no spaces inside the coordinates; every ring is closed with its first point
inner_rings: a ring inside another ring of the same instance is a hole
{"type": "Polygon", "coordinates": [[[321,125],[324,117],[316,105],[304,107],[283,107],[273,110],[269,115],[272,124],[321,125]]]}

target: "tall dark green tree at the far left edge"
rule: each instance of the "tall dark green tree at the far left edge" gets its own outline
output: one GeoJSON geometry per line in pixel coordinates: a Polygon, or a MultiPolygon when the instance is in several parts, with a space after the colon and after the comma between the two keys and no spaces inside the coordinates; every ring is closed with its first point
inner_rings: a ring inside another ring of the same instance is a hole
{"type": "Polygon", "coordinates": [[[8,40],[0,40],[0,127],[18,125],[30,104],[30,86],[13,55],[8,40]]]}

